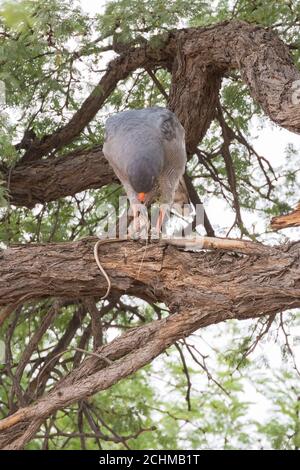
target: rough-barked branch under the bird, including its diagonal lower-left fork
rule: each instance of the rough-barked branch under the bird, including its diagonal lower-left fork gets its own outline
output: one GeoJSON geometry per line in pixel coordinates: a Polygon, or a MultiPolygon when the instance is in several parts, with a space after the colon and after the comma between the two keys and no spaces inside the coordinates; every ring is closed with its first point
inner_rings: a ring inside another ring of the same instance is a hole
{"type": "MultiPolygon", "coordinates": [[[[0,261],[2,304],[28,292],[69,298],[103,294],[106,285],[93,260],[94,241],[5,250],[0,261]]],[[[137,249],[136,242],[128,241],[101,246],[113,290],[163,301],[173,315],[98,348],[97,357],[86,359],[32,406],[0,421],[1,448],[22,448],[54,411],[109,388],[200,327],[299,307],[300,243],[259,247],[260,254],[237,256],[183,252],[160,244],[137,249]]]]}

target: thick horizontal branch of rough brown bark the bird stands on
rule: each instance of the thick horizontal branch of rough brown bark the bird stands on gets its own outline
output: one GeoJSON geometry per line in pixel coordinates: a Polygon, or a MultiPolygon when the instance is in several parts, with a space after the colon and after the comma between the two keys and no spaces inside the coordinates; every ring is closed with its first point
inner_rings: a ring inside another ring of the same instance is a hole
{"type": "MultiPolygon", "coordinates": [[[[19,245],[2,251],[0,305],[30,296],[103,295],[107,286],[93,257],[95,241],[19,245]]],[[[163,301],[181,310],[190,309],[191,304],[202,311],[209,307],[215,315],[219,304],[233,316],[244,306],[247,315],[255,316],[257,311],[267,314],[300,305],[299,246],[266,247],[260,254],[257,250],[249,256],[223,257],[158,243],[143,246],[120,241],[101,245],[99,257],[111,278],[112,291],[163,301]]]]}

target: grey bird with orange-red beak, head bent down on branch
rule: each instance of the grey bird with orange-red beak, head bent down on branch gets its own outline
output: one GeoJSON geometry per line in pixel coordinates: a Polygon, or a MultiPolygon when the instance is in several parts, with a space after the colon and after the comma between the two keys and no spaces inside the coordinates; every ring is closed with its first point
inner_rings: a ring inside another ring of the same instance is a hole
{"type": "MultiPolygon", "coordinates": [[[[141,203],[171,205],[180,181],[187,194],[185,132],[168,109],[135,109],[108,118],[103,153],[124,186],[134,219],[141,203]]],[[[164,216],[160,209],[158,231],[164,216]]]]}

